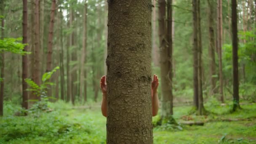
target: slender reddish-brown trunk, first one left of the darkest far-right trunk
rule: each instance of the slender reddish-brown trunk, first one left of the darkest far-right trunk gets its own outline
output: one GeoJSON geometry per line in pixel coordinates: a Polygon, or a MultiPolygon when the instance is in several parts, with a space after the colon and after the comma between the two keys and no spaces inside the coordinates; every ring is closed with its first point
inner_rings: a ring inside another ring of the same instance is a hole
{"type": "Polygon", "coordinates": [[[219,56],[219,93],[224,103],[223,74],[222,74],[222,0],[217,0],[217,51],[219,56]]]}

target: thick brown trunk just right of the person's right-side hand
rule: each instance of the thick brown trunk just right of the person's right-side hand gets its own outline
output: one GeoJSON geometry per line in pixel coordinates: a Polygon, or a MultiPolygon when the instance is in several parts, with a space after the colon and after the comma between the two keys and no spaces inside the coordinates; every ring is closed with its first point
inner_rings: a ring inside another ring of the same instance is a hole
{"type": "MultiPolygon", "coordinates": [[[[165,22],[163,18],[165,18],[165,14],[163,14],[163,8],[165,6],[165,2],[159,1],[160,5],[160,13],[159,15],[160,21],[165,22]],[[160,3],[161,2],[161,3],[160,3]]],[[[165,10],[165,9],[164,9],[165,10]]],[[[160,25],[160,24],[159,24],[160,25]]],[[[160,35],[165,35],[166,33],[166,46],[163,46],[163,39],[160,37],[160,42],[162,42],[162,47],[160,50],[160,68],[161,68],[161,85],[162,85],[162,119],[166,119],[173,115],[173,92],[172,92],[172,0],[167,0],[167,26],[161,27],[160,35]]]]}

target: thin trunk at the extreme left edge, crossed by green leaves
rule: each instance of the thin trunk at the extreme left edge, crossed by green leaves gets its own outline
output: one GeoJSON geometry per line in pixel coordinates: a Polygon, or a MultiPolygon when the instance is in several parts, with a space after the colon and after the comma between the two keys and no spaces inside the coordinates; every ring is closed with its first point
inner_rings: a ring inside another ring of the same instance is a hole
{"type": "MultiPolygon", "coordinates": [[[[4,16],[4,1],[0,1],[1,15],[4,16]]],[[[5,21],[4,18],[1,19],[1,39],[4,38],[4,27],[5,21]]],[[[0,78],[4,78],[4,68],[5,68],[5,54],[0,53],[0,67],[1,67],[1,75],[0,78]]],[[[0,116],[3,116],[3,96],[4,96],[4,80],[0,81],[0,116]]]]}

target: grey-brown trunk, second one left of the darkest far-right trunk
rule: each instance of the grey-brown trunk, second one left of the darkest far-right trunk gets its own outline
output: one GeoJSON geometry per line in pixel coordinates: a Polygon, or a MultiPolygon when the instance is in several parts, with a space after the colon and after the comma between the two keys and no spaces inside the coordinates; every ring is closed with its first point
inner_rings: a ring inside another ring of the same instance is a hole
{"type": "Polygon", "coordinates": [[[208,24],[209,24],[209,64],[210,64],[210,77],[211,77],[211,94],[217,93],[216,89],[216,66],[215,66],[215,38],[214,38],[214,19],[213,19],[213,1],[207,0],[208,2],[208,24]]]}

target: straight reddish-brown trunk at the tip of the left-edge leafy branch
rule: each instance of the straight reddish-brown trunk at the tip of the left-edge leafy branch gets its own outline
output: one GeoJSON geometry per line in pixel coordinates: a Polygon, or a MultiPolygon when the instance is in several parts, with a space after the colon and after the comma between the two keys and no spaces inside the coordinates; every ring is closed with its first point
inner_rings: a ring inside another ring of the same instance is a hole
{"type": "MultiPolygon", "coordinates": [[[[28,40],[27,40],[27,18],[28,17],[28,13],[27,13],[27,0],[23,0],[23,22],[22,22],[22,30],[23,30],[23,39],[22,39],[22,43],[27,44],[28,40]]],[[[24,52],[28,51],[28,46],[25,45],[24,52]]],[[[28,85],[25,82],[25,79],[28,78],[28,56],[24,55],[22,56],[22,107],[24,109],[28,109],[29,105],[28,105],[28,85]]]]}

